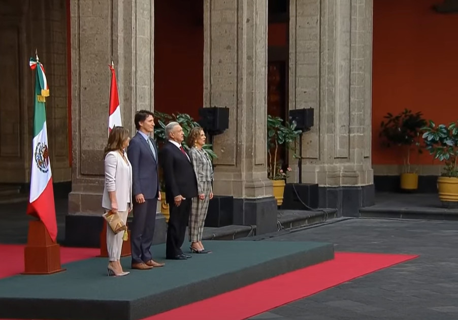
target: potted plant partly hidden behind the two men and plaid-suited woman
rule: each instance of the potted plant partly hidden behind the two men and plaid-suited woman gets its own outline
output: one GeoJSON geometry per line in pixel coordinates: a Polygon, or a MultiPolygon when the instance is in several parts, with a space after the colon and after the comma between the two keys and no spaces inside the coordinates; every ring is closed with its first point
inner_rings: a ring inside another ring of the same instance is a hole
{"type": "MultiPolygon", "coordinates": [[[[189,135],[191,129],[195,126],[199,126],[199,123],[195,122],[188,114],[178,113],[178,114],[167,114],[159,111],[154,111],[154,120],[156,125],[154,126],[154,138],[158,148],[160,149],[164,143],[166,143],[166,125],[171,121],[178,122],[183,128],[184,141],[182,143],[183,148],[189,150],[189,147],[186,145],[185,141],[189,135]]],[[[208,153],[210,159],[213,160],[217,158],[216,153],[212,149],[211,144],[205,144],[203,149],[208,153]]],[[[162,178],[162,170],[159,169],[159,181],[160,181],[160,193],[161,193],[161,203],[160,203],[160,212],[166,217],[166,222],[169,221],[169,205],[166,202],[166,189],[164,179],[162,178]]]]}

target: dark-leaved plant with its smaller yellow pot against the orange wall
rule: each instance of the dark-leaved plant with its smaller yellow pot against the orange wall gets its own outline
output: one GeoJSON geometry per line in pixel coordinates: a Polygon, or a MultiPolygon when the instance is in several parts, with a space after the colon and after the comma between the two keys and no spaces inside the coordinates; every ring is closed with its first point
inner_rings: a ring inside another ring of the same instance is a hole
{"type": "Polygon", "coordinates": [[[402,149],[404,170],[401,173],[401,189],[416,190],[418,188],[418,173],[413,171],[410,164],[412,151],[422,152],[420,131],[426,125],[422,113],[413,113],[405,109],[397,115],[387,113],[380,124],[381,144],[384,147],[397,146],[402,149]]]}

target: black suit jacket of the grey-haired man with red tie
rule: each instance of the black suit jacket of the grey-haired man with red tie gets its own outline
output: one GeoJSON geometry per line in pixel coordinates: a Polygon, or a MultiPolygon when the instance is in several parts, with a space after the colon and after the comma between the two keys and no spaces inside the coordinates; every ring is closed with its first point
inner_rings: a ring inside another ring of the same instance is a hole
{"type": "Polygon", "coordinates": [[[166,200],[173,203],[176,196],[197,197],[197,179],[188,157],[177,146],[167,142],[160,151],[160,163],[166,182],[166,200]]]}

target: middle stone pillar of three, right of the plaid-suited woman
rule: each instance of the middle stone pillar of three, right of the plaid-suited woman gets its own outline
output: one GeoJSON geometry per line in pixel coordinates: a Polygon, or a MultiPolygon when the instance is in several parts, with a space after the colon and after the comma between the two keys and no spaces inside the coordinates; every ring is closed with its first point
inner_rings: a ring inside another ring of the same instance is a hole
{"type": "Polygon", "coordinates": [[[204,105],[230,109],[214,138],[214,193],[234,196],[234,224],[276,230],[267,178],[267,0],[205,0],[204,105]]]}

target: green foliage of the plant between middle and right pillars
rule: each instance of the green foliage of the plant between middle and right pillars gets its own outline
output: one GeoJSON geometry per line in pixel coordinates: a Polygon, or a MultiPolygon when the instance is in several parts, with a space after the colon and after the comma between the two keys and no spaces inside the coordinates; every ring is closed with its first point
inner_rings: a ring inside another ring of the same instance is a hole
{"type": "MultiPolygon", "coordinates": [[[[288,177],[289,168],[284,172],[277,164],[278,147],[284,145],[292,150],[296,150],[295,142],[301,130],[296,130],[296,123],[285,122],[280,117],[267,116],[267,152],[269,154],[268,175],[271,180],[281,180],[288,177]]],[[[296,154],[295,154],[296,156],[296,154]]]]}

